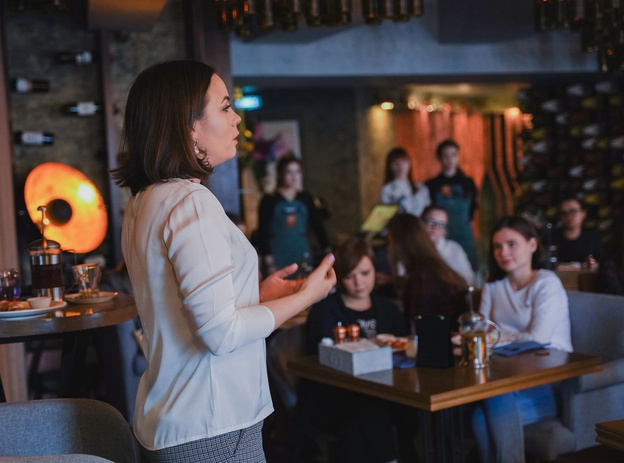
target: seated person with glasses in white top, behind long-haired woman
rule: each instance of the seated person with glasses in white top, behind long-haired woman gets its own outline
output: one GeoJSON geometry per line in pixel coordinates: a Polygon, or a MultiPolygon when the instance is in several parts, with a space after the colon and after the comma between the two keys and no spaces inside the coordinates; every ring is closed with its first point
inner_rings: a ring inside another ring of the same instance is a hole
{"type": "Polygon", "coordinates": [[[429,238],[435,244],[442,259],[466,280],[466,284],[473,285],[475,274],[466,251],[458,242],[446,239],[446,229],[448,227],[448,214],[446,211],[439,206],[427,206],[421,218],[429,238]]]}

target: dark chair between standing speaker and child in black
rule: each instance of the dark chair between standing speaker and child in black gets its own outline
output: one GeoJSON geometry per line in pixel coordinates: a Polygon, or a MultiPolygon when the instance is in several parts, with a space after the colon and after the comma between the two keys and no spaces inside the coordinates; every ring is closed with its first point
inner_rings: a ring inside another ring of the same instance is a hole
{"type": "MultiPolygon", "coordinates": [[[[306,442],[320,442],[326,448],[328,461],[338,461],[338,440],[333,434],[315,428],[302,412],[297,397],[297,378],[288,372],[288,360],[301,356],[305,325],[277,331],[267,343],[267,370],[276,413],[276,434],[286,434],[290,461],[304,461],[306,442]],[[284,430],[284,431],[282,431],[284,430]]],[[[1,462],[0,462],[1,463],[1,462]]]]}

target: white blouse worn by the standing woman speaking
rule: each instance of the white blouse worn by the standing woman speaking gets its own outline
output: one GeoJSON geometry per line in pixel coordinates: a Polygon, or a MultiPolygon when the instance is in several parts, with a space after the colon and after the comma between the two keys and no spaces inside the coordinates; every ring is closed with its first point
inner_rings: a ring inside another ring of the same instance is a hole
{"type": "Polygon", "coordinates": [[[149,367],[135,434],[155,450],[252,426],[273,411],[258,258],[203,185],[172,180],[128,202],[123,254],[149,367]]]}

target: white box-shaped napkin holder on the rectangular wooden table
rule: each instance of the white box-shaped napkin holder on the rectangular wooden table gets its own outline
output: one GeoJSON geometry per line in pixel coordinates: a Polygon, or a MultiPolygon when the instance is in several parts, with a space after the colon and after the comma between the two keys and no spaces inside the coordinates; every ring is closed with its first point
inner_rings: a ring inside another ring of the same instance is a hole
{"type": "Polygon", "coordinates": [[[392,369],[392,347],[368,339],[334,345],[319,344],[319,363],[350,375],[392,369]]]}

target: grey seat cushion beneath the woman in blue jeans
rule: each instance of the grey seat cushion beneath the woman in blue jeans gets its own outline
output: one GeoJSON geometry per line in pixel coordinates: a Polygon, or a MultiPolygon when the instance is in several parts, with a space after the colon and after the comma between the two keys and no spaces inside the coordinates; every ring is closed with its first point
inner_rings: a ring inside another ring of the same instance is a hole
{"type": "Polygon", "coordinates": [[[576,438],[557,419],[541,421],[524,427],[524,446],[527,454],[554,461],[558,455],[576,449],[576,438]]]}

